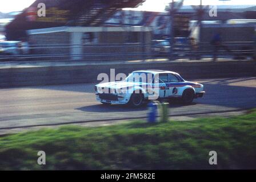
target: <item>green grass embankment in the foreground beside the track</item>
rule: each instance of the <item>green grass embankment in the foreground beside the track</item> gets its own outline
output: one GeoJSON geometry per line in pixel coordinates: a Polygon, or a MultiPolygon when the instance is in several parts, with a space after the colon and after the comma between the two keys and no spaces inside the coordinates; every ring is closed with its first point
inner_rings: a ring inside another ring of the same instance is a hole
{"type": "Polygon", "coordinates": [[[0,169],[256,168],[256,110],[232,118],[66,126],[0,138],[0,169]],[[46,152],[46,166],[37,152],[46,152]],[[217,151],[218,165],[209,165],[217,151]]]}

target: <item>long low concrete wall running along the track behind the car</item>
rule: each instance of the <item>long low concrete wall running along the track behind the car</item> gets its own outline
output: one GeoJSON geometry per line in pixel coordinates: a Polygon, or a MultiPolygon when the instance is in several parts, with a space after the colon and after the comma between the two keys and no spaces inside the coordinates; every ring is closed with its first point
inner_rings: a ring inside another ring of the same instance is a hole
{"type": "Polygon", "coordinates": [[[141,69],[163,69],[180,73],[185,79],[256,76],[256,61],[219,61],[197,63],[147,63],[78,65],[67,67],[0,69],[0,88],[97,81],[99,73],[131,73],[141,69]]]}

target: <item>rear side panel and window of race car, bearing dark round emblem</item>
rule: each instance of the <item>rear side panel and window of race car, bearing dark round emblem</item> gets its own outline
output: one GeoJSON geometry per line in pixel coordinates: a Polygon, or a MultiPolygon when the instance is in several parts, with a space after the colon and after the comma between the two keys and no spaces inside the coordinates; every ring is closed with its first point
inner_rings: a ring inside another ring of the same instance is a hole
{"type": "Polygon", "coordinates": [[[180,82],[179,78],[172,73],[169,73],[168,77],[169,77],[169,82],[166,85],[167,89],[168,89],[167,95],[169,97],[175,97],[175,96],[177,96],[178,91],[180,89],[179,87],[181,86],[181,84],[179,84],[179,82],[180,82]]]}

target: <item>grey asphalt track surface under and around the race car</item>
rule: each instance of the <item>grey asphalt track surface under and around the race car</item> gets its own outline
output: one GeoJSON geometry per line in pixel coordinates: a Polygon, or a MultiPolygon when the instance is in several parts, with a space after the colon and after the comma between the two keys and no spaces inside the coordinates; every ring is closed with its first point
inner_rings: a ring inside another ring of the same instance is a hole
{"type": "MultiPolygon", "coordinates": [[[[171,104],[170,115],[218,115],[256,107],[255,77],[192,81],[204,84],[206,95],[194,100],[191,105],[171,104]]],[[[97,102],[94,85],[0,89],[0,129],[146,117],[146,106],[133,109],[121,105],[105,106],[97,102]]]]}

